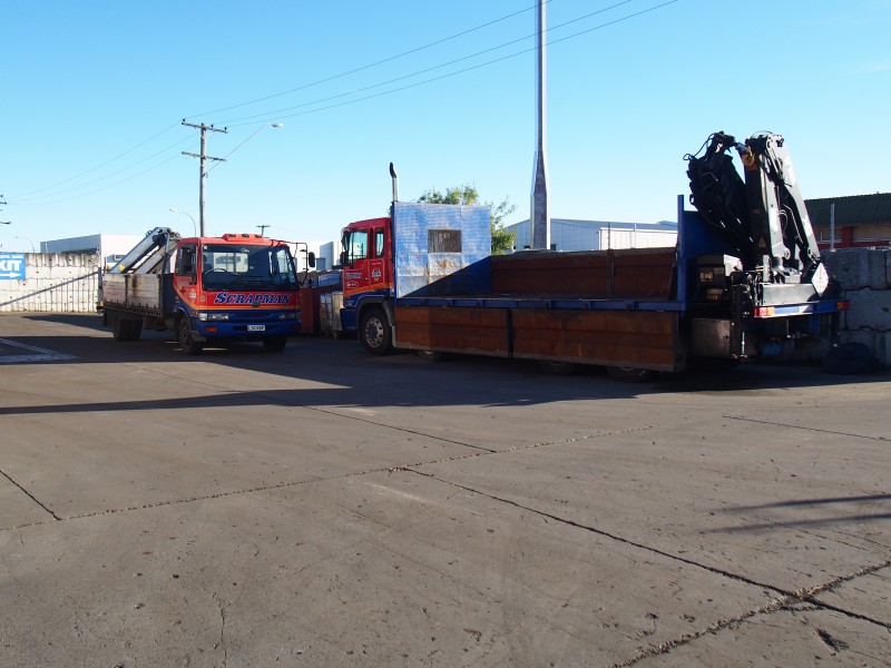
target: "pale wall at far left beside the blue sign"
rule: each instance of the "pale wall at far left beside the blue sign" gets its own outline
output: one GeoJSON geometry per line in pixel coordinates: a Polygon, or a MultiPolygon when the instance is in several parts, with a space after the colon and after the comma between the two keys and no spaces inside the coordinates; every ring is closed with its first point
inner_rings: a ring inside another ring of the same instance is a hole
{"type": "Polygon", "coordinates": [[[98,255],[26,253],[23,281],[0,281],[0,312],[96,312],[98,255]]]}

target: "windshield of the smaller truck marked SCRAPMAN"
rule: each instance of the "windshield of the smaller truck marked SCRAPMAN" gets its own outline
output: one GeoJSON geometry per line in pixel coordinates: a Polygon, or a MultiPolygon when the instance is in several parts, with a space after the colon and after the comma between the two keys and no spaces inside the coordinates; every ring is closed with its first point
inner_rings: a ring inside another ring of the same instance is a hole
{"type": "Polygon", "coordinates": [[[297,289],[294,261],[287,246],[202,246],[205,289],[297,289]]]}

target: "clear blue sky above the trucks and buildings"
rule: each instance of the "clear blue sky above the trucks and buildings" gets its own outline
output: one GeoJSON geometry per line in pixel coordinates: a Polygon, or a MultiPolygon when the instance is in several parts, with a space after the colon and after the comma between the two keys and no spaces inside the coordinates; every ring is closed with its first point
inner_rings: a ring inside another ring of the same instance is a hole
{"type": "MultiPolygon", "coordinates": [[[[551,216],[674,219],[715,130],[784,135],[806,198],[891,190],[891,0],[665,2],[548,2],[551,216]]],[[[391,160],[402,199],[472,184],[523,219],[535,4],[4,0],[0,246],[189,232],[183,118],[228,128],[210,234],[335,239],[391,160]]]]}

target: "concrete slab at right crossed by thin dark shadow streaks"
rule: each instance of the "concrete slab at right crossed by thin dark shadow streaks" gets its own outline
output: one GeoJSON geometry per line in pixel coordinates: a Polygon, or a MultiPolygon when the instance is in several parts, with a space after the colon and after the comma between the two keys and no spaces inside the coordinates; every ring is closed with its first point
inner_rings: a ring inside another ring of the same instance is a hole
{"type": "Polygon", "coordinates": [[[756,428],[727,448],[723,430],[702,418],[418,470],[786,592],[885,559],[883,445],[756,428]]]}

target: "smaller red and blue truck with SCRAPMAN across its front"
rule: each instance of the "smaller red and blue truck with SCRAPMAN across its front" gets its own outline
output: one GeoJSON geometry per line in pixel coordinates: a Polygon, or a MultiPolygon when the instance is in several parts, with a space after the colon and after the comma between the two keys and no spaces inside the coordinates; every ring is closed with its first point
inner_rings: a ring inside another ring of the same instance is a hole
{"type": "Polygon", "coordinates": [[[156,227],[102,276],[102,312],[117,341],[170,331],[180,350],[255,341],[271,352],[300,333],[300,281],[286,242],[256,234],[180,237],[156,227]]]}

